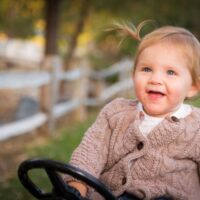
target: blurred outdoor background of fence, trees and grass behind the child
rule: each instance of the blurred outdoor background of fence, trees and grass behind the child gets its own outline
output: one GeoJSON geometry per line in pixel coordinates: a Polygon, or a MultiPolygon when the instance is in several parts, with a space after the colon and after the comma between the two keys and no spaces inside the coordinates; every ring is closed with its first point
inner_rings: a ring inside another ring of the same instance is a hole
{"type": "Polygon", "coordinates": [[[199,0],[1,0],[0,199],[31,199],[16,175],[21,161],[67,162],[102,105],[134,98],[137,42],[106,30],[147,19],[155,23],[142,35],[174,25],[200,39],[199,0]]]}

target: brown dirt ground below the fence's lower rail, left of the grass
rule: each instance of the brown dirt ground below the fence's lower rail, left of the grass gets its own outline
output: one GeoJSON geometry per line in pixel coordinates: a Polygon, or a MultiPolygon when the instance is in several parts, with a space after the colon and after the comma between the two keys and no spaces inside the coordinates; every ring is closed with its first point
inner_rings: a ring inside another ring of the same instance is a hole
{"type": "Polygon", "coordinates": [[[28,148],[44,144],[49,137],[44,131],[37,130],[0,141],[0,183],[17,175],[19,164],[28,158],[28,148]]]}

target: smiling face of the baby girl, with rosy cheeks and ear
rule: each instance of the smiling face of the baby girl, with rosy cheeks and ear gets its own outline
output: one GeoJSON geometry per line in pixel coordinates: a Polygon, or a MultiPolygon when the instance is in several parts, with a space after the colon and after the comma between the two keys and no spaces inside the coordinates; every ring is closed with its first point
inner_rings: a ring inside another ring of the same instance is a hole
{"type": "Polygon", "coordinates": [[[186,97],[197,93],[184,51],[166,42],[141,52],[133,82],[143,109],[154,117],[172,114],[186,97]]]}

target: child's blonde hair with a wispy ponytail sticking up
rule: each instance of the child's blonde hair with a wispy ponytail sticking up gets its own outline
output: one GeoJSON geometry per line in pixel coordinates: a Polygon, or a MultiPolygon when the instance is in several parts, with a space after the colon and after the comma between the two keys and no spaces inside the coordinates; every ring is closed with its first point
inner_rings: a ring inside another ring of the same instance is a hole
{"type": "Polygon", "coordinates": [[[133,73],[137,67],[140,54],[144,49],[159,42],[167,42],[171,45],[177,45],[181,47],[185,52],[188,59],[188,67],[191,72],[193,84],[199,86],[200,43],[197,38],[190,31],[175,26],[164,26],[157,28],[141,38],[140,31],[147,23],[149,23],[149,20],[140,23],[137,28],[134,26],[117,24],[117,30],[122,32],[123,35],[131,36],[133,39],[139,41],[138,49],[135,54],[133,73]]]}

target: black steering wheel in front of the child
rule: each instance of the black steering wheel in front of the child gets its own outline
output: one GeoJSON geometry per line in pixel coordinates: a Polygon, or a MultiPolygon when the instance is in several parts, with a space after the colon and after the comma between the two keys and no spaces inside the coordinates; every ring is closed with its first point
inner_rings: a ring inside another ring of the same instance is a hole
{"type": "Polygon", "coordinates": [[[84,200],[80,193],[69,186],[62,178],[62,174],[69,174],[94,188],[105,200],[117,200],[117,198],[91,174],[78,169],[70,164],[65,164],[49,159],[31,159],[22,162],[18,168],[18,177],[22,185],[39,200],[84,200]],[[47,173],[53,189],[49,193],[43,192],[30,179],[28,172],[33,169],[43,169],[47,173]]]}

